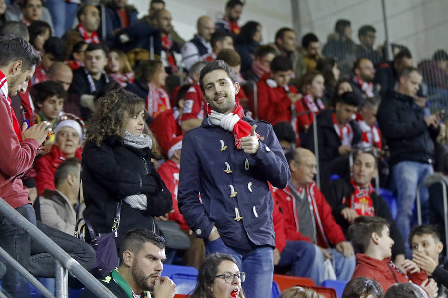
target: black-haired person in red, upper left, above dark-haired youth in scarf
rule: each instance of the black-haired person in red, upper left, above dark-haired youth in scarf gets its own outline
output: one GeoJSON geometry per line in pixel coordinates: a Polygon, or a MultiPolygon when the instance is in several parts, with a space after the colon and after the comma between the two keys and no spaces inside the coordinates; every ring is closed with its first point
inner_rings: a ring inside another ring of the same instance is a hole
{"type": "Polygon", "coordinates": [[[44,47],[40,53],[42,63],[36,67],[34,76],[30,80],[30,84],[38,84],[47,80],[47,71],[54,62],[65,60],[65,46],[62,39],[58,37],[50,37],[45,41],[44,47]]]}

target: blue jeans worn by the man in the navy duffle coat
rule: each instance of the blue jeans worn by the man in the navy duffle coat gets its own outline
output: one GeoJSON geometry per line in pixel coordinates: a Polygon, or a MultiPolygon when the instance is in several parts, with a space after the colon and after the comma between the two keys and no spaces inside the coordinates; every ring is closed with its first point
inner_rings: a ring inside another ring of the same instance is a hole
{"type": "Polygon", "coordinates": [[[206,244],[206,255],[221,252],[233,256],[241,271],[247,272],[242,283],[247,298],[269,298],[272,290],[274,261],[271,247],[260,247],[252,250],[230,248],[223,239],[218,238],[206,244]]]}

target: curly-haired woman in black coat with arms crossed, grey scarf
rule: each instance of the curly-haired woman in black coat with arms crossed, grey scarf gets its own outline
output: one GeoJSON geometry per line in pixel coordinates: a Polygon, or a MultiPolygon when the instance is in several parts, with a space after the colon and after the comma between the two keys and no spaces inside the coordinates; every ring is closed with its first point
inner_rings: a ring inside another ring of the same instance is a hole
{"type": "Polygon", "coordinates": [[[171,210],[171,194],[151,162],[160,156],[145,126],[145,102],[126,90],[112,91],[97,101],[86,125],[82,160],[84,218],[95,233],[110,233],[122,200],[117,248],[132,228],[156,231],[154,216],[171,210]]]}

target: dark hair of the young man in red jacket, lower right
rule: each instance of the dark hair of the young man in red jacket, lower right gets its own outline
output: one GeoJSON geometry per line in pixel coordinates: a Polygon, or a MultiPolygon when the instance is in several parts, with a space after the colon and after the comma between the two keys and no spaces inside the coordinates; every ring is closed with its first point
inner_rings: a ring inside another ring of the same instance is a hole
{"type": "Polygon", "coordinates": [[[353,246],[361,253],[365,253],[370,244],[372,233],[381,235],[385,227],[389,227],[389,221],[377,216],[360,216],[348,228],[348,234],[353,246]]]}

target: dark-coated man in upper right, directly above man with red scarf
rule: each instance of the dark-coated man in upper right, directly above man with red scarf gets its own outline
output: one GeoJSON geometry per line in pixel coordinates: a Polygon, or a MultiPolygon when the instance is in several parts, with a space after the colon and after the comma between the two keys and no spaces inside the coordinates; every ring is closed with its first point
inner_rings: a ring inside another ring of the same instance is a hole
{"type": "Polygon", "coordinates": [[[382,63],[382,53],[373,49],[376,39],[376,29],[371,25],[364,25],[358,30],[358,38],[360,44],[356,46],[356,58],[367,58],[375,66],[382,63]]]}

